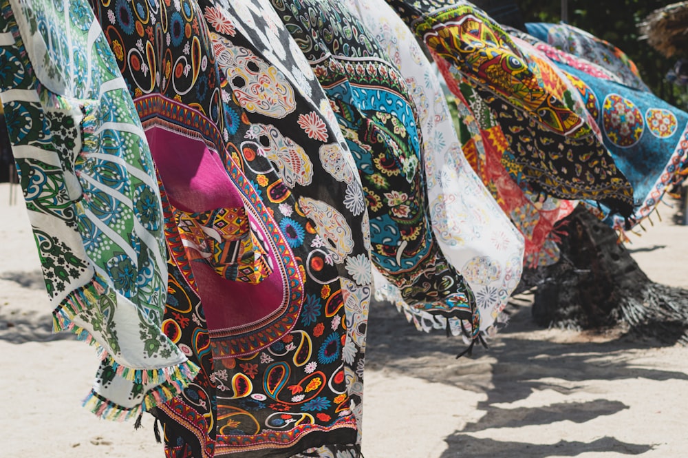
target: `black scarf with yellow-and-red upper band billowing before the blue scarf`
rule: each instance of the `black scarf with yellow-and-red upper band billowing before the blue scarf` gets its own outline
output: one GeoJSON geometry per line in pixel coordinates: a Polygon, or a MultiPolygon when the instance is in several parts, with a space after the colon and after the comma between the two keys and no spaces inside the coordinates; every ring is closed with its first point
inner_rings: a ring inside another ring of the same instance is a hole
{"type": "Polygon", "coordinates": [[[470,3],[388,0],[428,48],[449,63],[445,79],[467,79],[499,113],[519,174],[535,191],[588,198],[629,216],[630,183],[590,123],[572,110],[542,67],[470,3]],[[489,95],[488,95],[489,94],[489,95]],[[502,114],[502,110],[511,107],[502,114]]]}

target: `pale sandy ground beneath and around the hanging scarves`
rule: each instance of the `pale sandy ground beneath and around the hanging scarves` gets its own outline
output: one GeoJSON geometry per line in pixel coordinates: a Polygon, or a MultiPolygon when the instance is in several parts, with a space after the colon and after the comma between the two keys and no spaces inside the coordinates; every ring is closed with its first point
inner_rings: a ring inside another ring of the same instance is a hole
{"type": "MultiPolygon", "coordinates": [[[[655,281],[688,287],[688,227],[634,237],[655,281]]],[[[144,428],[80,407],[92,348],[52,335],[50,306],[21,195],[0,184],[0,457],[163,457],[144,428]]],[[[619,335],[538,329],[528,297],[489,351],[455,360],[459,342],[418,333],[388,304],[369,321],[367,458],[685,457],[688,348],[619,335]]]]}

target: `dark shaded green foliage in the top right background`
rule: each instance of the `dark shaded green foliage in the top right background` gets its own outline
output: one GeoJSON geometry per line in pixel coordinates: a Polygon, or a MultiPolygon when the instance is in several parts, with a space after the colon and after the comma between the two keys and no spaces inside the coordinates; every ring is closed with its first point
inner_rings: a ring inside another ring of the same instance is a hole
{"type": "MultiPolygon", "coordinates": [[[[656,96],[688,110],[688,94],[683,87],[665,79],[676,59],[667,59],[638,40],[638,22],[647,14],[678,0],[568,0],[568,23],[609,41],[628,54],[638,66],[645,84],[656,96]]],[[[516,0],[524,21],[553,22],[561,20],[561,2],[552,0],[516,0]]]]}

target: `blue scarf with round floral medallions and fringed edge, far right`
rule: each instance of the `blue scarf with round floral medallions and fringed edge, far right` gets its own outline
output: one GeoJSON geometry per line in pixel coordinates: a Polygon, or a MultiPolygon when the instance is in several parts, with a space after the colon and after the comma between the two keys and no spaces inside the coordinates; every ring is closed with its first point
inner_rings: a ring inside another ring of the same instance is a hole
{"type": "MultiPolygon", "coordinates": [[[[519,37],[541,49],[548,46],[522,32],[519,37]]],[[[688,114],[650,92],[599,77],[593,64],[579,56],[552,57],[579,91],[590,116],[599,124],[605,147],[634,189],[632,225],[603,205],[588,202],[588,207],[614,229],[631,229],[652,214],[667,188],[684,178],[688,114]]]]}

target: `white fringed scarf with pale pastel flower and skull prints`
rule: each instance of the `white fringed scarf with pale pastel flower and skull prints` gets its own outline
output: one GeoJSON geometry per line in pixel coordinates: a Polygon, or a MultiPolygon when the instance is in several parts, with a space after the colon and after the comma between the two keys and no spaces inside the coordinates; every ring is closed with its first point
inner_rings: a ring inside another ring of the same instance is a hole
{"type": "MultiPolygon", "coordinates": [[[[462,272],[488,331],[521,278],[524,240],[477,177],[461,151],[440,82],[411,31],[383,0],[348,0],[404,77],[416,105],[433,233],[447,259],[462,272]]],[[[394,286],[383,290],[419,329],[434,322],[409,306],[394,286]]],[[[376,293],[379,292],[376,280],[376,293]]],[[[451,320],[451,331],[460,324],[451,320]]]]}

